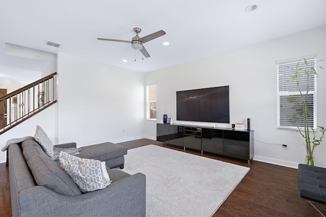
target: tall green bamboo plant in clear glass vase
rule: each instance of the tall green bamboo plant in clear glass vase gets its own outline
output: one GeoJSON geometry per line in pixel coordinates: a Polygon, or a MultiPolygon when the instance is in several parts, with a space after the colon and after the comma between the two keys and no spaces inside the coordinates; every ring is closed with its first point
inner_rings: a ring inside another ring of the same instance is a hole
{"type": "MultiPolygon", "coordinates": [[[[291,67],[288,68],[290,68],[294,72],[292,79],[295,80],[296,82],[296,86],[298,88],[298,91],[300,92],[300,96],[302,100],[301,103],[303,103],[304,130],[302,129],[301,126],[297,125],[296,126],[297,132],[299,132],[302,135],[302,137],[305,139],[304,144],[306,146],[306,151],[307,151],[307,156],[306,156],[307,165],[315,166],[315,161],[313,156],[314,149],[316,146],[320,145],[320,142],[322,141],[322,138],[325,133],[325,128],[322,126],[317,126],[316,129],[314,129],[313,127],[309,127],[308,118],[307,118],[306,97],[308,96],[309,87],[310,87],[309,78],[311,76],[317,76],[318,74],[315,67],[310,66],[305,58],[304,58],[304,64],[301,64],[301,61],[298,61],[295,68],[291,68],[291,67]],[[302,91],[300,87],[300,80],[302,80],[301,78],[304,78],[306,82],[305,91],[302,91]]],[[[323,69],[320,66],[319,68],[323,69]]]]}

